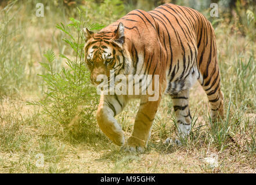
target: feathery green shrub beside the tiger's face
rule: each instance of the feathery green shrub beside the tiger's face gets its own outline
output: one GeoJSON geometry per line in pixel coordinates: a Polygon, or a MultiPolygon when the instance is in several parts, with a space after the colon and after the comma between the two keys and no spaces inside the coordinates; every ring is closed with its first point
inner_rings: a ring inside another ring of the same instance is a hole
{"type": "MultiPolygon", "coordinates": [[[[75,134],[80,133],[81,126],[86,127],[88,132],[95,128],[93,112],[98,105],[98,95],[91,86],[90,74],[83,61],[85,39],[82,28],[85,24],[82,21],[82,12],[79,9],[78,12],[80,20],[70,18],[71,23],[67,26],[62,23],[56,25],[56,28],[67,35],[63,41],[73,49],[75,57],[71,59],[60,54],[60,57],[66,60],[67,67],[63,66],[58,72],[54,66],[60,60],[56,59],[52,50],[47,51],[44,55],[46,61],[40,62],[45,74],[39,75],[44,80],[45,96],[41,101],[30,102],[41,106],[42,113],[51,118],[51,121],[75,129],[75,134]]],[[[103,25],[90,24],[88,27],[100,29],[103,25]]]]}

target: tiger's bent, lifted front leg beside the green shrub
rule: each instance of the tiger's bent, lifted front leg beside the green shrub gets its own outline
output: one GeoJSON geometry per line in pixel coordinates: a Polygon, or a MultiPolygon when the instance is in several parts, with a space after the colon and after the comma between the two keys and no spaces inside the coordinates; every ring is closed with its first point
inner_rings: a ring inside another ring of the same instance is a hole
{"type": "Polygon", "coordinates": [[[101,95],[96,116],[102,132],[119,146],[124,145],[125,138],[122,128],[114,119],[114,116],[122,111],[126,102],[124,96],[101,95]]]}

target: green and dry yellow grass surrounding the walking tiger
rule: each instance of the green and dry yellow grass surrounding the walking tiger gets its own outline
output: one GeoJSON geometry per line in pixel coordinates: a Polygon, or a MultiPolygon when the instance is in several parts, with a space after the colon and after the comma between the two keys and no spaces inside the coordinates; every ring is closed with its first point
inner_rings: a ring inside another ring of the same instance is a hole
{"type": "MultiPolygon", "coordinates": [[[[166,138],[176,135],[171,98],[166,96],[158,109],[146,153],[129,154],[122,153],[99,130],[93,117],[98,97],[84,98],[82,92],[94,90],[86,83],[77,83],[86,82],[88,71],[83,68],[79,52],[63,40],[68,35],[57,29],[56,24],[72,24],[69,17],[74,17],[81,21],[78,28],[93,27],[93,23],[108,25],[132,9],[150,10],[161,2],[3,1],[0,6],[0,172],[255,173],[256,6],[252,1],[237,1],[237,6],[227,11],[228,6],[220,1],[219,17],[212,18],[207,3],[175,2],[200,10],[214,25],[226,119],[210,128],[208,100],[196,84],[190,92],[193,129],[188,141],[182,146],[163,144],[166,138]],[[44,3],[44,17],[35,16],[37,2],[44,3]],[[77,5],[83,12],[81,16],[77,5]],[[55,53],[50,62],[49,50],[55,53]],[[52,73],[41,62],[51,65],[52,73]],[[84,76],[75,77],[77,70],[84,76]],[[51,74],[52,86],[44,78],[51,74]],[[37,165],[38,154],[43,154],[44,166],[37,165]],[[211,168],[204,163],[204,158],[211,156],[218,156],[218,167],[211,168]]],[[[66,26],[67,32],[74,36],[73,45],[77,42],[82,48],[84,42],[82,35],[78,40],[78,28],[66,26]]],[[[117,116],[127,137],[132,133],[138,105],[138,101],[129,103],[117,116]]]]}

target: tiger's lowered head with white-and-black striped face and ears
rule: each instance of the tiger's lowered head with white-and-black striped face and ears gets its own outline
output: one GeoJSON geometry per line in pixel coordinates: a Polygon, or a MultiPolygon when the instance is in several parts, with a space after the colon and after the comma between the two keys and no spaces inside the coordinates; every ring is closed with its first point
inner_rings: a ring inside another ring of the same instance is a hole
{"type": "Polygon", "coordinates": [[[98,85],[98,75],[106,75],[109,79],[110,70],[115,75],[120,74],[125,68],[124,52],[124,25],[118,24],[114,31],[100,31],[93,33],[84,28],[85,34],[85,63],[91,71],[91,83],[98,85]]]}

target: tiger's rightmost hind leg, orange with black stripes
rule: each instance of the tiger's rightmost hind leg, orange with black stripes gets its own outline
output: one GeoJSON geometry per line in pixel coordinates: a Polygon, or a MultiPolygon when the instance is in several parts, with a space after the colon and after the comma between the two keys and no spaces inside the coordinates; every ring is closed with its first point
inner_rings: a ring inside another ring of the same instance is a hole
{"type": "Polygon", "coordinates": [[[224,116],[223,111],[223,94],[221,92],[221,73],[219,71],[217,45],[212,28],[209,21],[206,24],[205,32],[208,32],[206,43],[198,43],[197,69],[199,69],[199,83],[207,94],[208,100],[211,104],[211,119],[216,121],[218,117],[224,116]],[[209,26],[207,26],[209,25],[209,26]]]}

